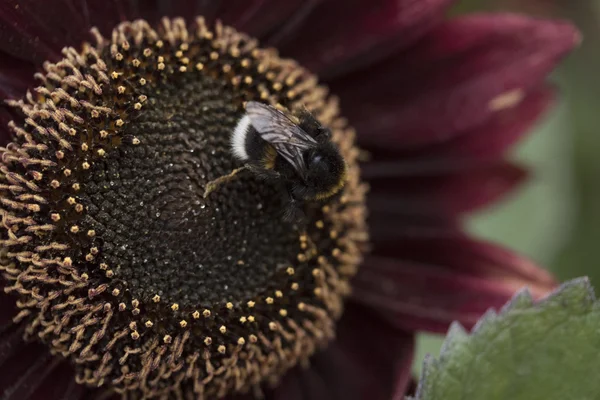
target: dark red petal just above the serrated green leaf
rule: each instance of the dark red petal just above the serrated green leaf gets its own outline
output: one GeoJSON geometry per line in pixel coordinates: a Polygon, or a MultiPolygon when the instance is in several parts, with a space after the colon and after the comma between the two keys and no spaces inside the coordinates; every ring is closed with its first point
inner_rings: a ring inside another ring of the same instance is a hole
{"type": "Polygon", "coordinates": [[[443,333],[455,320],[470,328],[521,287],[539,298],[556,285],[530,260],[457,232],[397,228],[374,247],[353,281],[353,299],[402,329],[443,333]]]}

